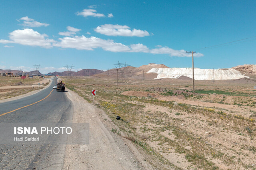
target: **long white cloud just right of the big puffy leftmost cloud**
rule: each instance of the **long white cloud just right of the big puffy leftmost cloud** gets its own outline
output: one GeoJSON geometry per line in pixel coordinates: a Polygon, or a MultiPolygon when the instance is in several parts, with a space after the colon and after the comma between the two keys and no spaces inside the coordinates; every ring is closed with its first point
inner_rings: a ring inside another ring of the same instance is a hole
{"type": "Polygon", "coordinates": [[[78,50],[93,50],[102,48],[105,51],[128,52],[130,48],[121,43],[115,43],[113,40],[105,40],[97,37],[87,38],[84,35],[75,37],[59,38],[60,42],[54,43],[53,46],[61,48],[74,48],[78,50]]]}

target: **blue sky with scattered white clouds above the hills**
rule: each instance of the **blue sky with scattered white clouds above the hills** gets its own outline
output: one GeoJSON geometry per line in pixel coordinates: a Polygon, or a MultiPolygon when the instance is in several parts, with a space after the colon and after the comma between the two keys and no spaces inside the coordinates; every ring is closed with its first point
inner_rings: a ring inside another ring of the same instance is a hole
{"type": "Polygon", "coordinates": [[[191,67],[184,51],[197,52],[199,68],[256,64],[255,0],[1,0],[0,7],[0,69],[191,67]]]}

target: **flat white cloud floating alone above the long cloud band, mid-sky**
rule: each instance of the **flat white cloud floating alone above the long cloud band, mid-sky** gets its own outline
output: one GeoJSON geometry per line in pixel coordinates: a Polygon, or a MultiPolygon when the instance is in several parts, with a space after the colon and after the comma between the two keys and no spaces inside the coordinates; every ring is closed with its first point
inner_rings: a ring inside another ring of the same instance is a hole
{"type": "Polygon", "coordinates": [[[127,25],[105,24],[98,26],[94,31],[109,36],[144,37],[149,35],[148,31],[142,31],[140,29],[130,30],[130,27],[127,25]]]}

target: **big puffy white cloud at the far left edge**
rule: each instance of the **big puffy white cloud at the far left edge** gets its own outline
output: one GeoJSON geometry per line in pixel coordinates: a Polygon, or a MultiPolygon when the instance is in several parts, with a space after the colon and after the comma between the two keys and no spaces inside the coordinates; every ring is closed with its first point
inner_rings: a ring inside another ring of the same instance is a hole
{"type": "Polygon", "coordinates": [[[43,48],[52,48],[53,39],[47,39],[48,35],[40,34],[33,29],[17,29],[9,33],[10,40],[1,39],[0,43],[16,43],[21,45],[39,46],[43,48]]]}

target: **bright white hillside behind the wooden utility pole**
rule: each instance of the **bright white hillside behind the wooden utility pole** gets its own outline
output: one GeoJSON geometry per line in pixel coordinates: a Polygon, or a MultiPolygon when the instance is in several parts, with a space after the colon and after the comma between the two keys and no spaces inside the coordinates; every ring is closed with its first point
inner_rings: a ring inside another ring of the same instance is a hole
{"type": "MultiPolygon", "coordinates": [[[[151,72],[158,74],[155,79],[179,78],[180,76],[193,78],[192,68],[152,68],[147,73],[151,72]]],[[[195,80],[232,80],[244,77],[248,78],[233,68],[227,70],[194,68],[195,80]]]]}

